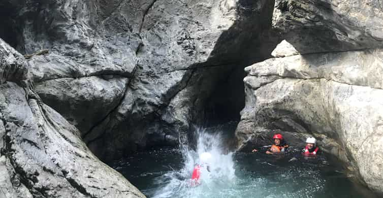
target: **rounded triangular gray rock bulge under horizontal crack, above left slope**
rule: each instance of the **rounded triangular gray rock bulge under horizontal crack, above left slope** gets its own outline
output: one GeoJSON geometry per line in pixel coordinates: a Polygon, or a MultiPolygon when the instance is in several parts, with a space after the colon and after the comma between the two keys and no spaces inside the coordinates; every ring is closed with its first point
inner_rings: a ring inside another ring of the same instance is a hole
{"type": "Polygon", "coordinates": [[[47,105],[86,134],[119,105],[128,80],[119,76],[59,78],[36,83],[35,89],[47,105]]]}

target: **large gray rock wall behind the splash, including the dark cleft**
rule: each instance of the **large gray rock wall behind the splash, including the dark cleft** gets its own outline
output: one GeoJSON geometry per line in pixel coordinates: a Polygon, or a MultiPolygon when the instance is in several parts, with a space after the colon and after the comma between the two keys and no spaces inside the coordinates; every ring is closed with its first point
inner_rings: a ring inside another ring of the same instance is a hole
{"type": "Polygon", "coordinates": [[[19,28],[3,35],[25,54],[49,49],[27,60],[35,90],[103,159],[239,119],[243,68],[277,43],[273,1],[36,2],[5,1],[4,26],[19,28]]]}

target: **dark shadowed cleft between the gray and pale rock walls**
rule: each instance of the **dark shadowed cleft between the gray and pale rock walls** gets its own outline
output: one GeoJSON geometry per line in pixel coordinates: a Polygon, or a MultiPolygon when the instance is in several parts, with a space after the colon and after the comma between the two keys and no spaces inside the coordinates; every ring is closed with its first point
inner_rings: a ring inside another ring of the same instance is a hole
{"type": "Polygon", "coordinates": [[[240,121],[245,106],[244,68],[270,58],[281,41],[271,24],[274,3],[238,1],[236,22],[222,33],[212,52],[210,61],[229,62],[231,66],[214,74],[218,77],[204,107],[204,125],[240,121]]]}

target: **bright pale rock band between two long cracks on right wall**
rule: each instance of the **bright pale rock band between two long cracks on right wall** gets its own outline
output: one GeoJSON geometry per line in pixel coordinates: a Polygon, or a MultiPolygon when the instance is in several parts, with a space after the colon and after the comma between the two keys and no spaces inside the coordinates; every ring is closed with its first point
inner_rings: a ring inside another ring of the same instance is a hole
{"type": "MultiPolygon", "coordinates": [[[[339,83],[383,88],[383,50],[367,49],[338,53],[296,55],[271,58],[245,68],[249,76],[270,75],[298,79],[328,79],[339,83]],[[273,67],[270,67],[273,65],[273,67]]],[[[257,86],[251,85],[253,89],[257,86]]]]}

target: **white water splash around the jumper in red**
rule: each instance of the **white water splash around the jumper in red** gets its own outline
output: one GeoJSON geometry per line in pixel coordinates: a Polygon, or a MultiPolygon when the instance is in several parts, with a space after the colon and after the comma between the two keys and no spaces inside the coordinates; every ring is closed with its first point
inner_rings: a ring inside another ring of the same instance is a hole
{"type": "MultiPolygon", "coordinates": [[[[211,194],[217,194],[219,189],[230,188],[235,181],[235,170],[233,162],[233,153],[225,153],[227,149],[222,145],[220,133],[208,133],[205,129],[195,131],[197,139],[196,151],[182,147],[184,158],[183,168],[177,172],[165,174],[157,178],[157,184],[166,182],[165,187],[156,191],[154,197],[210,197],[211,194]],[[209,161],[210,172],[206,169],[201,170],[201,185],[190,186],[193,169],[200,163],[199,155],[203,152],[211,153],[209,161]]],[[[218,193],[219,194],[219,193],[218,193]]]]}

